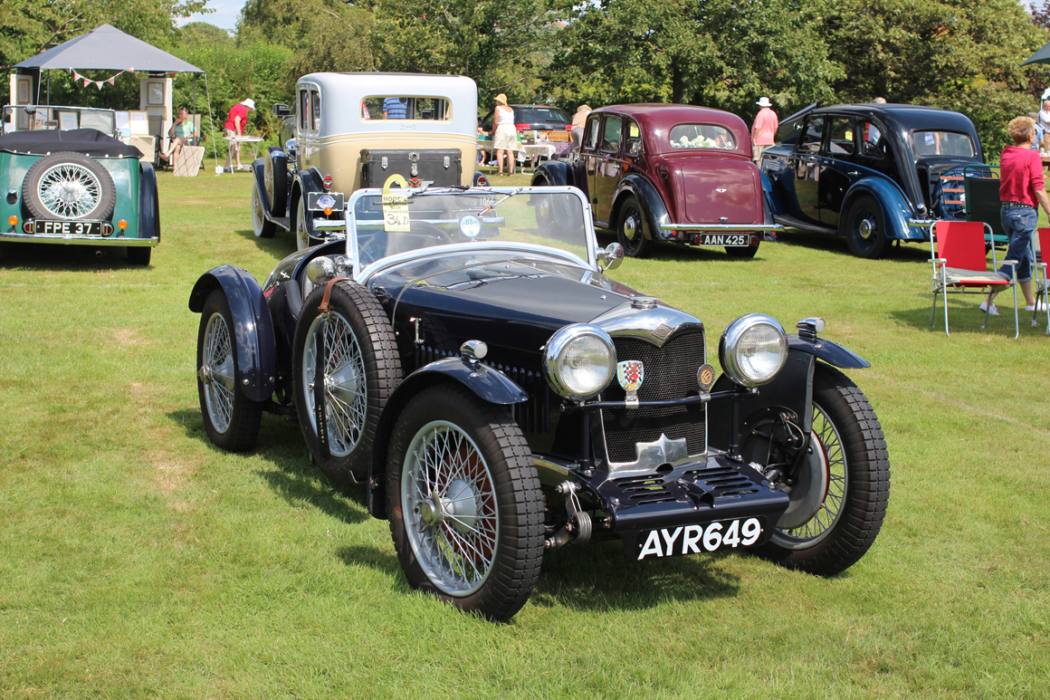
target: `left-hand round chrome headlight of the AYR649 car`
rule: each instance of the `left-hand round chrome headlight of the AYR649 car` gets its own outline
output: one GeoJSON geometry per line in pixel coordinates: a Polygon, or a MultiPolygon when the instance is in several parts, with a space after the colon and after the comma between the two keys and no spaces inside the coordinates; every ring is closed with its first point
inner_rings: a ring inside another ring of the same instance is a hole
{"type": "Polygon", "coordinates": [[[616,373],[616,349],[597,326],[573,324],[547,342],[543,354],[547,383],[567,398],[583,400],[605,389],[616,373]]]}

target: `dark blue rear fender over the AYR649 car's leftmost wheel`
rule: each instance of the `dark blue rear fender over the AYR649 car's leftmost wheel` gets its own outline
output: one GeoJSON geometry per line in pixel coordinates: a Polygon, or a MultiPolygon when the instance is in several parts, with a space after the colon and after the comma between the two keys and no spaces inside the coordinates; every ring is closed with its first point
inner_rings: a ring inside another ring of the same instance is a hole
{"type": "Polygon", "coordinates": [[[277,344],[262,288],[255,277],[239,267],[222,265],[202,274],[193,285],[190,311],[201,313],[205,300],[214,289],[222,289],[226,294],[233,315],[237,387],[253,402],[268,400],[277,375],[277,344]]]}

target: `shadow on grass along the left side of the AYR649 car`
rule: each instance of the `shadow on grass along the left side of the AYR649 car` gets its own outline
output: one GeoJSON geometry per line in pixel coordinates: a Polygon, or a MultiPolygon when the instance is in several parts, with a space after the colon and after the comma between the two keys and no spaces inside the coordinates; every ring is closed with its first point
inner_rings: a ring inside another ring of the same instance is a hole
{"type": "MultiPolygon", "coordinates": [[[[188,438],[203,442],[212,452],[229,454],[208,438],[200,410],[177,409],[167,415],[188,438]]],[[[252,454],[273,465],[274,469],[256,470],[255,474],[290,506],[309,503],[346,523],[369,519],[363,506],[364,486],[339,487],[324,478],[310,461],[299,427],[288,418],[264,413],[252,454]]]]}

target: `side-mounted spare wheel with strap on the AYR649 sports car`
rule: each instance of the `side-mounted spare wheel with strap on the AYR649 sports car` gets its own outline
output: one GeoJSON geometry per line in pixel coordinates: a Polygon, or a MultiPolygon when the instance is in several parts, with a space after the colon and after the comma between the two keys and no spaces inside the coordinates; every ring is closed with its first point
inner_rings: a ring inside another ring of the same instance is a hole
{"type": "Polygon", "coordinates": [[[337,282],[324,322],[326,455],[317,436],[315,397],[310,386],[317,364],[317,331],[322,321],[318,307],[323,294],[324,285],[310,292],[295,326],[295,406],[314,461],[333,481],[349,483],[351,477],[360,481],[368,475],[379,414],[401,382],[401,361],[394,330],[375,295],[355,282],[337,282]]]}

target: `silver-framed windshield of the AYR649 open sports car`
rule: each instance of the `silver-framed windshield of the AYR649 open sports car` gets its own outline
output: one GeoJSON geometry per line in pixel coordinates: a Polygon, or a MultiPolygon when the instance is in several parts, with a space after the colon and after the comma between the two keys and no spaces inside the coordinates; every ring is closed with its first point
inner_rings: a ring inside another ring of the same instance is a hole
{"type": "Polygon", "coordinates": [[[383,200],[371,190],[353,204],[351,245],[361,268],[390,255],[456,244],[532,244],[591,261],[592,234],[574,191],[395,189],[383,200]]]}

